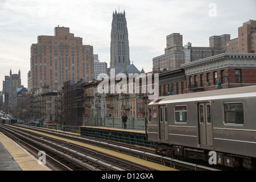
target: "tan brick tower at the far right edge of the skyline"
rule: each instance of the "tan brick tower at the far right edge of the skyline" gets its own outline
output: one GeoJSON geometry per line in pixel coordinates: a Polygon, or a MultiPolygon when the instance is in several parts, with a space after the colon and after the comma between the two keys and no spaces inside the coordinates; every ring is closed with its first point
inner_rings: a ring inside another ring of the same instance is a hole
{"type": "Polygon", "coordinates": [[[228,53],[254,53],[256,50],[256,20],[249,20],[238,28],[238,38],[227,43],[228,53]]]}

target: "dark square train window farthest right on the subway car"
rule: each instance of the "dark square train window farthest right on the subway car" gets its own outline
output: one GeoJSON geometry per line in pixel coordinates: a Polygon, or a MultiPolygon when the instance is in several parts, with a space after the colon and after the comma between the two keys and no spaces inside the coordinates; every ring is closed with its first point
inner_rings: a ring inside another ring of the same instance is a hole
{"type": "Polygon", "coordinates": [[[241,125],[245,123],[243,115],[242,103],[226,103],[224,104],[225,123],[241,125]]]}

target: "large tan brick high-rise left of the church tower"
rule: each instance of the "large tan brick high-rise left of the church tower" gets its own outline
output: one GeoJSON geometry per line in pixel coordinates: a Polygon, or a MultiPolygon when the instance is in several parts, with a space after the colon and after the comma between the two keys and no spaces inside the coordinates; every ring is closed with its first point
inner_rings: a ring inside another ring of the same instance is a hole
{"type": "Polygon", "coordinates": [[[68,27],[55,27],[54,36],[38,36],[31,45],[30,89],[49,85],[56,89],[68,80],[94,78],[93,47],[82,44],[82,38],[74,36],[68,27]]]}

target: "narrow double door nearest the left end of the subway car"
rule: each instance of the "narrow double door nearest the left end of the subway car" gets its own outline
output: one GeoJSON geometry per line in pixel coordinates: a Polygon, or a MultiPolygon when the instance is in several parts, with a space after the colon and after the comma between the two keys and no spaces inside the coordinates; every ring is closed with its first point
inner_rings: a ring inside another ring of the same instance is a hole
{"type": "Polygon", "coordinates": [[[159,106],[159,139],[168,140],[167,106],[159,106]]]}

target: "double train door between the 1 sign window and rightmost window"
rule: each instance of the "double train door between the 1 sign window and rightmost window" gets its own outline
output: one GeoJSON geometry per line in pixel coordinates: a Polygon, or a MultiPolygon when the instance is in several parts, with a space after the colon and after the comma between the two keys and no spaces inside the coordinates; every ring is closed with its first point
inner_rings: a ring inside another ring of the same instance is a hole
{"type": "Polygon", "coordinates": [[[213,146],[212,107],[210,102],[200,102],[199,112],[199,144],[213,146]]]}

